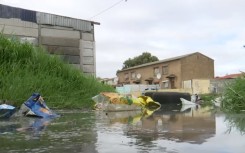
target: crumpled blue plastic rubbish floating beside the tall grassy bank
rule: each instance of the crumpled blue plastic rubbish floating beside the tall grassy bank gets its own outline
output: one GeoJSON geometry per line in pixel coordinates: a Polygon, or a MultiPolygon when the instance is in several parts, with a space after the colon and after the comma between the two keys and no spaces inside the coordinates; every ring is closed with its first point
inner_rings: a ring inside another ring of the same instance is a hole
{"type": "MultiPolygon", "coordinates": [[[[0,105],[0,119],[8,119],[16,111],[16,107],[7,104],[2,104],[0,105]]],[[[33,116],[40,118],[59,117],[59,115],[57,115],[48,108],[46,102],[39,93],[33,93],[31,97],[21,105],[18,114],[20,114],[21,116],[33,116]]]]}

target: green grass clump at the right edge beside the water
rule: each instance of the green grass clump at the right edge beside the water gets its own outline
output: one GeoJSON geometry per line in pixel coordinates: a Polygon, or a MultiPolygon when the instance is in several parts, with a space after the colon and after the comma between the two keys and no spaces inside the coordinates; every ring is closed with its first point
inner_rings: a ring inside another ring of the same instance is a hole
{"type": "Polygon", "coordinates": [[[222,110],[225,112],[245,111],[245,78],[235,79],[227,85],[222,100],[222,110]]]}

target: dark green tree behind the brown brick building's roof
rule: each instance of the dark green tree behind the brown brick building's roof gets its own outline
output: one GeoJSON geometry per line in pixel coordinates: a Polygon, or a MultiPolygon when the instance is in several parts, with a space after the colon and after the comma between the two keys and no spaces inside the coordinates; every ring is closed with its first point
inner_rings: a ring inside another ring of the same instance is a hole
{"type": "Polygon", "coordinates": [[[148,52],[143,52],[142,55],[136,56],[132,59],[129,58],[126,61],[124,61],[122,69],[127,69],[133,66],[155,62],[155,61],[159,61],[159,59],[156,56],[152,56],[151,53],[148,52]]]}

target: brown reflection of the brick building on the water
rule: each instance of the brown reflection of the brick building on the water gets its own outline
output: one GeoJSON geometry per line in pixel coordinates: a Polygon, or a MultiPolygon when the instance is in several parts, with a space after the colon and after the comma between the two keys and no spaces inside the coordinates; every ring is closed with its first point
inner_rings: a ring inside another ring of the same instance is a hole
{"type": "MultiPolygon", "coordinates": [[[[201,144],[215,134],[215,115],[206,109],[189,112],[158,112],[141,121],[140,132],[154,131],[154,137],[201,144]]],[[[132,132],[137,133],[137,131],[132,132]]]]}

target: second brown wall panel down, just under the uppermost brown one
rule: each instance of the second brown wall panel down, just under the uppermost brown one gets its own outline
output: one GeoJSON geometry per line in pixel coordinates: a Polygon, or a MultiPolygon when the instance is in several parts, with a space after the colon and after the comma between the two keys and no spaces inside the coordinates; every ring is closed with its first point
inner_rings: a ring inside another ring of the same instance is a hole
{"type": "Polygon", "coordinates": [[[80,55],[80,50],[77,47],[63,47],[63,46],[50,46],[44,45],[44,48],[50,54],[57,54],[57,55],[80,55]]]}

